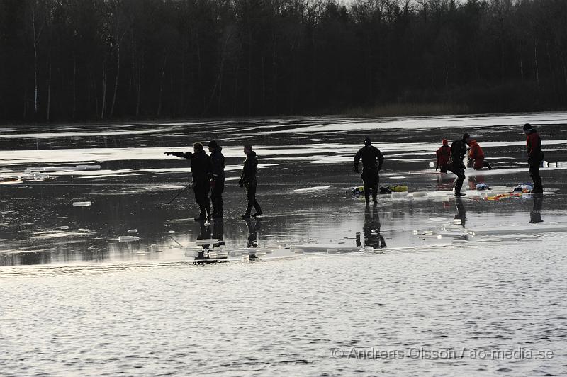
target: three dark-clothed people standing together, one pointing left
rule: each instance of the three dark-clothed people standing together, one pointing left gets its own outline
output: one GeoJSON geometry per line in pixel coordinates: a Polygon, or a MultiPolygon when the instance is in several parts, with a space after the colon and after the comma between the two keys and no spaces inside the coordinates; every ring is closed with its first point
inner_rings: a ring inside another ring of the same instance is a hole
{"type": "MultiPolygon", "coordinates": [[[[225,190],[225,157],[222,153],[223,148],[218,142],[211,140],[208,143],[210,156],[206,154],[203,144],[196,142],[193,144],[193,152],[165,152],[168,156],[181,157],[191,161],[191,187],[195,193],[195,201],[199,206],[199,215],[195,221],[210,220],[210,218],[223,218],[223,191],[225,190]],[[210,192],[210,201],[209,201],[210,192]],[[210,212],[211,203],[213,213],[210,212]]],[[[252,145],[244,146],[246,159],[242,174],[240,174],[240,187],[246,188],[248,206],[242,218],[250,218],[262,215],[262,208],[256,200],[256,169],[258,159],[256,152],[252,150],[252,145]],[[256,213],[251,215],[252,208],[256,213]]]]}

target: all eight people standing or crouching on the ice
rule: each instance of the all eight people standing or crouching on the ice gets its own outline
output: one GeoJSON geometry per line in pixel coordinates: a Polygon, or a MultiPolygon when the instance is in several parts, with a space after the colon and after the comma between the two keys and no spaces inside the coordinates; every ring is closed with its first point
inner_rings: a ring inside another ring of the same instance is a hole
{"type": "MultiPolygon", "coordinates": [[[[526,147],[529,164],[529,174],[532,176],[534,186],[532,193],[543,193],[544,188],[541,184],[541,176],[539,175],[539,167],[544,160],[544,152],[541,150],[541,138],[537,130],[529,123],[524,125],[524,134],[526,135],[526,147]]],[[[191,160],[191,175],[193,182],[191,184],[195,193],[195,201],[197,202],[200,213],[196,221],[208,220],[212,218],[223,218],[223,191],[225,188],[225,157],[218,142],[211,140],[208,143],[210,156],[206,154],[203,144],[196,142],[193,144],[193,152],[165,152],[168,156],[176,156],[191,160]],[[209,201],[210,192],[210,201],[209,201]],[[211,210],[213,204],[213,213],[211,210]]],[[[252,145],[244,146],[246,159],[240,181],[240,187],[246,188],[247,209],[242,218],[250,218],[262,215],[262,208],[256,199],[256,170],[258,159],[256,152],[252,150],[252,145]],[[256,213],[251,214],[252,208],[256,213]]],[[[447,139],[443,140],[442,147],[436,152],[437,166],[442,173],[451,173],[456,175],[454,191],[455,196],[464,196],[461,188],[465,180],[464,157],[468,154],[468,166],[473,169],[483,169],[487,167],[492,169],[490,164],[485,161],[485,154],[476,140],[471,139],[468,133],[465,133],[459,140],[455,140],[451,147],[447,139]]],[[[364,197],[366,204],[370,202],[370,193],[374,204],[377,203],[378,182],[380,181],[379,171],[384,163],[384,156],[378,148],[372,145],[369,137],[364,139],[364,147],[362,147],[354,156],[354,172],[359,173],[359,164],[362,160],[361,178],[364,182],[364,197]]]]}

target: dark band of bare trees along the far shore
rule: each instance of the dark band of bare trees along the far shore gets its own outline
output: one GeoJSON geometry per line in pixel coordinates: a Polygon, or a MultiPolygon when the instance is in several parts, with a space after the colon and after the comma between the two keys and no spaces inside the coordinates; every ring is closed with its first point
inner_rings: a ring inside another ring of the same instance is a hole
{"type": "Polygon", "coordinates": [[[0,119],[567,106],[565,0],[0,0],[0,119]]]}

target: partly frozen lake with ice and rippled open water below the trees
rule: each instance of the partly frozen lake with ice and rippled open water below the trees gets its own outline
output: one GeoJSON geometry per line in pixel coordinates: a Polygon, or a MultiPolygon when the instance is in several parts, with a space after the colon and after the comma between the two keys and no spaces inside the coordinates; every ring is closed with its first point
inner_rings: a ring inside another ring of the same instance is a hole
{"type": "Polygon", "coordinates": [[[566,147],[567,113],[1,127],[0,376],[562,374],[566,147]],[[543,198],[471,191],[529,181],[527,122],[558,163],[541,170],[543,198]],[[455,201],[429,162],[464,132],[495,169],[467,169],[455,201]],[[364,137],[386,157],[381,184],[410,195],[367,210],[346,194],[364,137]],[[204,225],[188,220],[192,192],[165,204],[189,163],[163,153],[210,139],[228,179],[224,220],[204,225]],[[261,220],[239,218],[247,142],[261,220]],[[229,263],[187,253],[210,237],[229,263]],[[250,243],[257,259],[242,257],[250,243]],[[470,357],[519,347],[554,356],[470,357]],[[462,357],[427,353],[447,349],[462,357]]]}

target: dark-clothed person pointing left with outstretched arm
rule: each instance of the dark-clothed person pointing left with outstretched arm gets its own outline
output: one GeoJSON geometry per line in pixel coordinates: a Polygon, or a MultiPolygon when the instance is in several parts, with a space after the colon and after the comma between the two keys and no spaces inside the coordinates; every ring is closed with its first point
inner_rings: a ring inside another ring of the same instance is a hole
{"type": "Polygon", "coordinates": [[[181,157],[191,160],[191,176],[193,177],[193,192],[195,201],[199,206],[200,213],[195,221],[202,221],[210,218],[210,201],[208,191],[210,190],[211,165],[210,157],[203,150],[200,142],[193,144],[193,153],[185,152],[165,152],[168,156],[181,157]]]}

